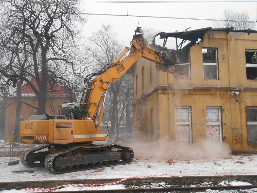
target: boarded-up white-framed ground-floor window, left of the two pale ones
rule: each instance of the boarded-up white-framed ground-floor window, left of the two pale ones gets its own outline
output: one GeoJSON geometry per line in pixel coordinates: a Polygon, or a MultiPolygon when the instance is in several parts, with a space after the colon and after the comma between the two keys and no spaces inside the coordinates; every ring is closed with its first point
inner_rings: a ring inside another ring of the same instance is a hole
{"type": "Polygon", "coordinates": [[[175,107],[176,142],[192,143],[191,107],[175,107]]]}

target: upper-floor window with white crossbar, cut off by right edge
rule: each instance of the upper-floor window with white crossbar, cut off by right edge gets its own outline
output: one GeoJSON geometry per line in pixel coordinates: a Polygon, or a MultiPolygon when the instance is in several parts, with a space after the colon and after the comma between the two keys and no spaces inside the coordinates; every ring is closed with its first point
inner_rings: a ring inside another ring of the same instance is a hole
{"type": "Polygon", "coordinates": [[[246,78],[257,80],[257,51],[246,50],[246,78]]]}

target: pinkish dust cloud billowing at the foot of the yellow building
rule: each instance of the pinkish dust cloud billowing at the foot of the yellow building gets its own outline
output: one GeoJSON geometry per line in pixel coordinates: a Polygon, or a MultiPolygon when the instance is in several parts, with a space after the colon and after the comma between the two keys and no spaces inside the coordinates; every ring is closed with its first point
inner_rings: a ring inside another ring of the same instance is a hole
{"type": "Polygon", "coordinates": [[[132,139],[122,143],[133,149],[135,159],[151,159],[151,161],[168,160],[195,160],[195,159],[223,159],[230,156],[230,147],[227,143],[201,141],[194,144],[168,142],[159,140],[144,142],[132,139]]]}

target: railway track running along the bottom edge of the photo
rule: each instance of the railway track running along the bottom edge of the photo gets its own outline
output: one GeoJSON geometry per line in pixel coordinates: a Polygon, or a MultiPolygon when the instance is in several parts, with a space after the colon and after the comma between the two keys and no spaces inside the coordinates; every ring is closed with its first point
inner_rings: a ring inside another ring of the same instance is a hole
{"type": "MultiPolygon", "coordinates": [[[[104,187],[103,187],[104,188],[104,187]]],[[[200,187],[168,187],[168,188],[126,188],[126,189],[106,189],[106,190],[78,190],[78,191],[58,191],[58,193],[118,193],[118,192],[137,192],[137,193],[145,193],[145,192],[159,192],[159,193],[178,193],[178,192],[197,192],[202,191],[205,192],[207,189],[211,190],[246,190],[257,188],[257,185],[232,185],[232,186],[200,186],[200,187]]],[[[257,190],[256,190],[257,191],[257,190]]],[[[240,191],[241,192],[241,191],[240,191]]],[[[25,192],[24,192],[25,193],[25,192]]],[[[26,192],[27,193],[27,192],[26,192]]]]}

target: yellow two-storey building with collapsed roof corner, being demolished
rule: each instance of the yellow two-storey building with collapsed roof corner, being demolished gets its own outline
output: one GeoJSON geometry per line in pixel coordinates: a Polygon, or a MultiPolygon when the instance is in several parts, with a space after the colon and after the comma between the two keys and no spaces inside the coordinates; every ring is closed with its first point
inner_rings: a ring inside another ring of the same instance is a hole
{"type": "Polygon", "coordinates": [[[135,32],[133,39],[154,49],[175,45],[180,60],[164,66],[141,58],[133,66],[135,136],[225,142],[233,153],[257,152],[257,31],[135,32]]]}

